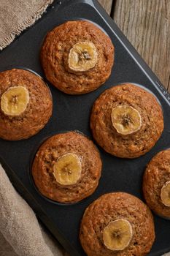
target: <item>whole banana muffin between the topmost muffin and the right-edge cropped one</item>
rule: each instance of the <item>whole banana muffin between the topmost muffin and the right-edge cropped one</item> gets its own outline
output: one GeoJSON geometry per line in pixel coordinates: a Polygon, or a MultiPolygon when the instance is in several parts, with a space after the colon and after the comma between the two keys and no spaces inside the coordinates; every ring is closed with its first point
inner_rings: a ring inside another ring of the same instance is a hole
{"type": "Polygon", "coordinates": [[[150,151],[161,137],[163,112],[150,92],[126,83],[107,89],[96,99],[90,127],[105,151],[135,158],[150,151]]]}

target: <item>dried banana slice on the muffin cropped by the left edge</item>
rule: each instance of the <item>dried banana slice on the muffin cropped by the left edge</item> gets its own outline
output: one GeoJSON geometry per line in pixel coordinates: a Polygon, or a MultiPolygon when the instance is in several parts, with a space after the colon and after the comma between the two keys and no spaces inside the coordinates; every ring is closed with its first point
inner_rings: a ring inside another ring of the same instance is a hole
{"type": "Polygon", "coordinates": [[[13,86],[1,96],[1,110],[7,116],[20,116],[27,108],[29,92],[24,86],[13,86]]]}

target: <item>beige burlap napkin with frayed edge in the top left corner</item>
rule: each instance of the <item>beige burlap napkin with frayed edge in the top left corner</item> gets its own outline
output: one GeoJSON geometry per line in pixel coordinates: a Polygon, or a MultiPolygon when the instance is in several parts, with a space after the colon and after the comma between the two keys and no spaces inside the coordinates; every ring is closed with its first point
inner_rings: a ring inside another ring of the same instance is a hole
{"type": "Polygon", "coordinates": [[[53,0],[0,0],[0,50],[31,26],[53,0]]]}

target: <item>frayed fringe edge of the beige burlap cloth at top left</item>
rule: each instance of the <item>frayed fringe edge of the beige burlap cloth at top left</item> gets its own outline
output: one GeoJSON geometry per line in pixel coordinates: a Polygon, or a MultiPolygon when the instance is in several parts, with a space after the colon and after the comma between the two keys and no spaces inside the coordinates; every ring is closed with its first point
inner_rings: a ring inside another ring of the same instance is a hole
{"type": "Polygon", "coordinates": [[[26,20],[22,24],[18,24],[17,28],[1,42],[0,50],[3,50],[7,47],[7,45],[10,45],[10,43],[15,39],[16,36],[18,36],[23,30],[27,29],[29,26],[32,26],[36,22],[36,20],[39,20],[47,7],[52,4],[53,1],[54,0],[48,0],[41,9],[37,10],[36,13],[31,16],[31,18],[28,18],[28,20],[26,20]]]}

